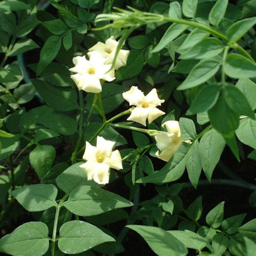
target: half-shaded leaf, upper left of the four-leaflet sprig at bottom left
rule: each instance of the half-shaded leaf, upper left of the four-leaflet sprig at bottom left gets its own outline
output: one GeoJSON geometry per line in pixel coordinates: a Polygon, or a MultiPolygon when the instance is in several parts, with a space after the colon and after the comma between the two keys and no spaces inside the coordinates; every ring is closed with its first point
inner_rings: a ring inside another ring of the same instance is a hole
{"type": "Polygon", "coordinates": [[[15,189],[11,194],[27,211],[44,211],[56,207],[58,189],[51,184],[36,184],[15,189]]]}

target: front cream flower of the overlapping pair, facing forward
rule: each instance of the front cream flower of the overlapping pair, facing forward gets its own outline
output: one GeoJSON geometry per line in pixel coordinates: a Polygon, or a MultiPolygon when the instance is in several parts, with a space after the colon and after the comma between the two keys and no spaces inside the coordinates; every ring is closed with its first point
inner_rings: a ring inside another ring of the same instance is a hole
{"type": "Polygon", "coordinates": [[[101,61],[86,60],[85,56],[73,58],[74,67],[69,70],[77,73],[71,75],[79,90],[86,92],[101,92],[100,80],[111,82],[115,79],[114,70],[110,70],[111,65],[104,65],[101,61]],[[110,70],[110,71],[109,71],[110,70]]]}

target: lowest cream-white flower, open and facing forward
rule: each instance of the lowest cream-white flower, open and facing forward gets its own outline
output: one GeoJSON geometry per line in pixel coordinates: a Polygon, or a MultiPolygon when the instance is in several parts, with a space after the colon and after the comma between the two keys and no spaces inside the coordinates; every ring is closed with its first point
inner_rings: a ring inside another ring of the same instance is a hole
{"type": "Polygon", "coordinates": [[[88,180],[94,180],[98,184],[107,184],[110,179],[110,168],[120,170],[123,168],[121,155],[118,150],[112,151],[115,142],[107,141],[98,136],[96,146],[86,142],[83,159],[85,164],[80,167],[85,171],[88,180]]]}

